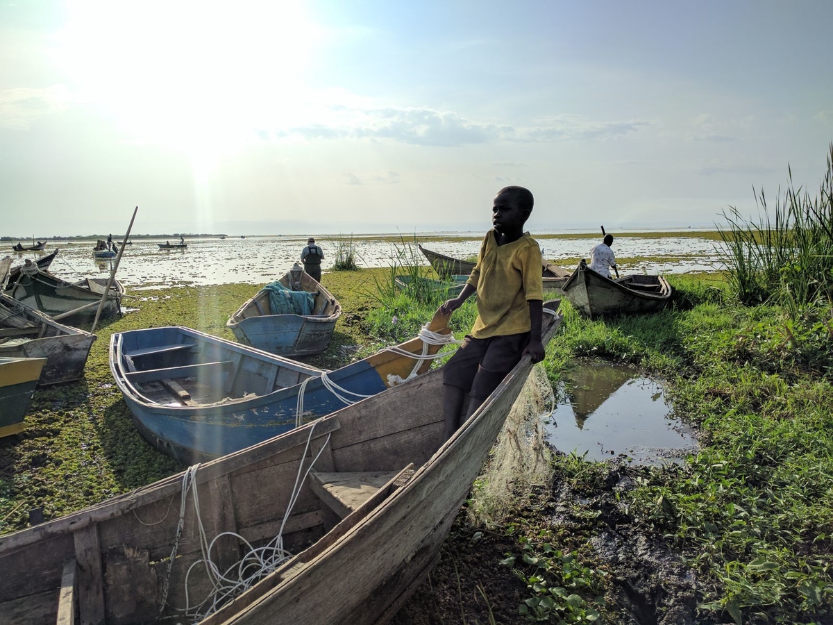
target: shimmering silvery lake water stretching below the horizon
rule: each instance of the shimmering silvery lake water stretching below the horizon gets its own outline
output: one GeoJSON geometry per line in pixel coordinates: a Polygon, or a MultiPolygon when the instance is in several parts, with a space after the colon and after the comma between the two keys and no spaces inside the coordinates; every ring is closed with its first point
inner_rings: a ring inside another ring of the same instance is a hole
{"type": "MultiPolygon", "coordinates": [[[[407,258],[427,265],[425,258],[412,246],[406,250],[413,235],[403,237],[405,243],[382,240],[381,235],[355,236],[353,252],[360,267],[388,267],[394,258],[407,258]]],[[[475,233],[420,233],[423,247],[456,258],[476,256],[481,235],[475,233]],[[471,237],[450,243],[450,237],[471,237]]],[[[545,258],[556,264],[566,258],[589,258],[590,248],[599,242],[596,235],[581,239],[541,239],[545,258]]],[[[306,237],[217,237],[187,238],[185,249],[160,249],[165,239],[142,239],[128,245],[119,264],[117,278],[128,287],[164,287],[172,284],[262,284],[281,277],[299,259],[306,237]]],[[[171,243],[177,243],[171,239],[171,243]]],[[[317,240],[326,255],[324,271],[332,266],[336,243],[326,238],[317,240]]],[[[47,253],[59,248],[50,271],[71,279],[83,276],[106,277],[112,261],[93,258],[94,241],[72,241],[47,244],[47,253]]],[[[9,246],[11,251],[11,246],[9,246]]],[[[620,258],[646,257],[630,266],[621,264],[619,273],[686,273],[715,271],[719,268],[715,243],[706,238],[617,238],[614,251],[620,258]],[[651,261],[651,257],[657,258],[651,261]]],[[[15,264],[22,258],[42,253],[12,253],[15,264]]],[[[402,264],[402,263],[400,263],[402,264]]]]}

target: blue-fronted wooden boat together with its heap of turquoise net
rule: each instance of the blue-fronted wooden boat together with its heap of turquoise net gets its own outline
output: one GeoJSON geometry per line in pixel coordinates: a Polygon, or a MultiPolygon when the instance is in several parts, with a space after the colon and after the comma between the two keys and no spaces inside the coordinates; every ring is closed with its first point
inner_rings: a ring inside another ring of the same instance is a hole
{"type": "Polygon", "coordinates": [[[335,296],[296,263],[238,308],[226,328],[252,348],[302,356],[327,349],[341,315],[335,296]]]}

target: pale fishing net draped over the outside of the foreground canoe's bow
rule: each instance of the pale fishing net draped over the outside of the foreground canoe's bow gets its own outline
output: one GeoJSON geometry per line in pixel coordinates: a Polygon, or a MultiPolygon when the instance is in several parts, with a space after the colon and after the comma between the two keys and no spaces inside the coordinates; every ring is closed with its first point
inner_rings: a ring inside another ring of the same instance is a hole
{"type": "Polygon", "coordinates": [[[471,522],[501,523],[511,512],[531,503],[537,488],[552,477],[550,450],[541,417],[552,412],[555,394],[541,365],[532,368],[506,417],[497,443],[477,477],[467,507],[471,522]]]}

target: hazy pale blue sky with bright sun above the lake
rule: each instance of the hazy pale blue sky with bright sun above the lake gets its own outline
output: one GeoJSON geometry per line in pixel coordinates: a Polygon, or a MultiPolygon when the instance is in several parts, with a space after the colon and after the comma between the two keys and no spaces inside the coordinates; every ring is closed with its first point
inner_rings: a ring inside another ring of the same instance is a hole
{"type": "Polygon", "coordinates": [[[831,0],[0,0],[0,236],[710,227],[816,195],[831,0]]]}

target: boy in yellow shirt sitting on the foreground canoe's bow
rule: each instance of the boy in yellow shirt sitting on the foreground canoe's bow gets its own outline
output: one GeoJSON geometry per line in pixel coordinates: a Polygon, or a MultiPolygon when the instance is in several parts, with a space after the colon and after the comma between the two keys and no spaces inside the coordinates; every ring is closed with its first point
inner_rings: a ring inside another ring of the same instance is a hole
{"type": "Polygon", "coordinates": [[[439,313],[450,314],[477,293],[477,319],[471,334],[443,368],[445,438],[451,438],[481,403],[528,353],[544,358],[541,343],[541,248],[524,223],[532,212],[532,193],[523,187],[497,192],[491,209],[494,225],[486,233],[466,286],[439,313]],[[463,413],[463,400],[469,393],[463,413]]]}

